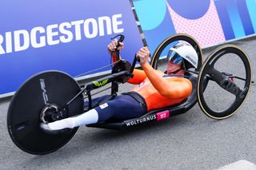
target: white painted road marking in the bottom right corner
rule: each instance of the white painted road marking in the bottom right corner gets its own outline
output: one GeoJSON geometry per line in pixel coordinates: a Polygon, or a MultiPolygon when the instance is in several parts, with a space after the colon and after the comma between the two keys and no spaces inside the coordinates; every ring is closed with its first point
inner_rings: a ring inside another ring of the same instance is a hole
{"type": "Polygon", "coordinates": [[[218,170],[256,170],[256,164],[247,160],[238,160],[237,162],[218,168],[218,170]]]}

